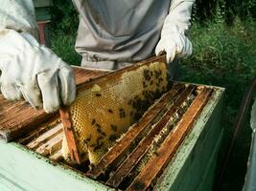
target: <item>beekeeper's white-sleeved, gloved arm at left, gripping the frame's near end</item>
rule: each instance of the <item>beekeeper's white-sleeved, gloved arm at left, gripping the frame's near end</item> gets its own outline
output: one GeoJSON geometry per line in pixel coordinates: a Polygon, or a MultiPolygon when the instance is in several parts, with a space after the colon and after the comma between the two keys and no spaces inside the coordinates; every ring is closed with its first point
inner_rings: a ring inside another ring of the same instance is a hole
{"type": "Polygon", "coordinates": [[[10,100],[24,97],[47,113],[76,96],[73,70],[36,40],[32,0],[0,0],[0,87],[10,100]]]}

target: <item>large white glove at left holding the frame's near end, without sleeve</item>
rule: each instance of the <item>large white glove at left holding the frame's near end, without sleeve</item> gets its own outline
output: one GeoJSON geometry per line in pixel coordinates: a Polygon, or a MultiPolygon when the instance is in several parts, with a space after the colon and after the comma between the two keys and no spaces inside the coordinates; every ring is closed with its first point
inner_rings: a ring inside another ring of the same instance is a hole
{"type": "Polygon", "coordinates": [[[47,113],[76,96],[73,70],[27,32],[0,30],[0,87],[10,100],[24,97],[47,113]]]}

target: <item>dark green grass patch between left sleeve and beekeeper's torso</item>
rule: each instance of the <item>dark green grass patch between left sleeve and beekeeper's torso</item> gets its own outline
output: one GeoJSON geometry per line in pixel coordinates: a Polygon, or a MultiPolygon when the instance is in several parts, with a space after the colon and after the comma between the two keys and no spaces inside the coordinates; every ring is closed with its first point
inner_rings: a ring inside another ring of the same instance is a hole
{"type": "Polygon", "coordinates": [[[51,48],[66,63],[81,64],[81,55],[75,51],[79,15],[70,0],[55,0],[51,7],[51,48]]]}

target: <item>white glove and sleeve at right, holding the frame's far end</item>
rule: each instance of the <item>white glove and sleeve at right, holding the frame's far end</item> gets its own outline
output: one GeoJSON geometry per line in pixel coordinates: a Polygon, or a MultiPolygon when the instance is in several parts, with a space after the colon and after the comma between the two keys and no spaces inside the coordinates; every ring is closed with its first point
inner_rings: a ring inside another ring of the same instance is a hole
{"type": "Polygon", "coordinates": [[[156,45],[155,54],[166,52],[167,63],[175,57],[184,57],[192,53],[192,44],[185,35],[190,27],[191,11],[195,0],[172,0],[161,38],[156,45]]]}

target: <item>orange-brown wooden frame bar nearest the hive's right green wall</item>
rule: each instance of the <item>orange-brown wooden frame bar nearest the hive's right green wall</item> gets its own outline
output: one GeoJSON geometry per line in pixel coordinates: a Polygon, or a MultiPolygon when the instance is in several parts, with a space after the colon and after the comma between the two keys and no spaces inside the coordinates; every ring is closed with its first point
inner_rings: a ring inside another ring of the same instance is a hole
{"type": "Polygon", "coordinates": [[[212,93],[212,89],[204,88],[195,98],[189,109],[186,111],[183,118],[175,127],[175,131],[170,134],[147,165],[143,168],[140,174],[130,184],[128,190],[147,190],[151,186],[151,182],[159,177],[166,165],[175,155],[178,146],[190,132],[194,122],[198,118],[203,106],[207,103],[208,98],[212,93]]]}

